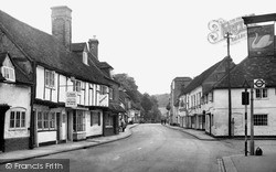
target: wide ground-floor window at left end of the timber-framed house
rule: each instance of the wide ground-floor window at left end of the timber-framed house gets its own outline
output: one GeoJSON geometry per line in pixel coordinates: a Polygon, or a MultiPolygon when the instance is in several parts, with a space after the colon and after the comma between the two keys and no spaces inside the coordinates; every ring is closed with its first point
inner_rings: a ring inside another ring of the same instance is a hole
{"type": "Polygon", "coordinates": [[[38,129],[53,130],[55,129],[55,112],[38,111],[38,129]]]}

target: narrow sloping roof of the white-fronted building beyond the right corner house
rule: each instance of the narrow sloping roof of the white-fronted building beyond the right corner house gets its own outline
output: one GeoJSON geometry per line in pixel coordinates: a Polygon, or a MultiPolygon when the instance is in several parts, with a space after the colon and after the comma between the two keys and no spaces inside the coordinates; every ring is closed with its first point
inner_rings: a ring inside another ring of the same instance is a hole
{"type": "Polygon", "coordinates": [[[209,67],[203,73],[201,73],[200,75],[198,75],[197,77],[194,77],[192,79],[192,82],[183,89],[183,92],[181,93],[181,95],[188,94],[188,93],[192,92],[193,89],[195,89],[197,87],[199,87],[200,85],[202,85],[202,83],[215,71],[215,68],[223,61],[225,61],[225,58],[223,58],[222,61],[217,62],[216,64],[214,64],[213,66],[209,67]]]}

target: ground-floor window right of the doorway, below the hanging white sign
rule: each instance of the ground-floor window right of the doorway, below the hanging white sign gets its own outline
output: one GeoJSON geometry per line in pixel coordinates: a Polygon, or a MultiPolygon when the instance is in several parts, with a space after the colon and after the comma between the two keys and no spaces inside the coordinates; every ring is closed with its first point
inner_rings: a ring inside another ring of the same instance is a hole
{"type": "Polygon", "coordinates": [[[73,114],[74,132],[85,131],[85,114],[82,110],[75,110],[73,114]]]}

